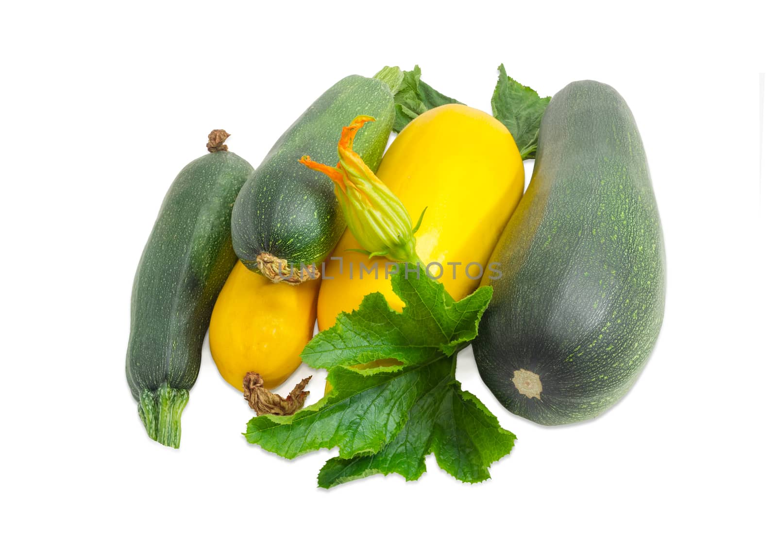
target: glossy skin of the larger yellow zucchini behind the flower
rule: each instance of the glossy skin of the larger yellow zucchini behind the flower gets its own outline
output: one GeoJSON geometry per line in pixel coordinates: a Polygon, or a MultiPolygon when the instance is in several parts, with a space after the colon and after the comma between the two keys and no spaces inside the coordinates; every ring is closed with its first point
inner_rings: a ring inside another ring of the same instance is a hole
{"type": "MultiPolygon", "coordinates": [[[[487,263],[497,239],[524,191],[521,154],[507,128],[489,114],[461,104],[439,106],[416,117],[397,136],[378,169],[380,178],[407,208],[410,218],[427,212],[416,232],[416,253],[425,263],[437,261],[443,267],[439,279],[455,300],[475,291],[479,279],[464,273],[468,263],[487,263]],[[453,277],[447,263],[460,262],[453,277]]],[[[354,235],[346,231],[329,259],[327,278],[319,295],[319,330],[335,323],[339,312],[350,312],[364,295],[380,291],[394,309],[402,302],[386,278],[383,257],[348,252],[358,249],[354,235]],[[375,271],[360,279],[360,262],[365,267],[378,263],[375,271]],[[354,276],[350,277],[353,267],[354,276]]],[[[430,274],[437,277],[437,267],[430,274]]],[[[477,275],[475,266],[471,269],[477,275]]],[[[413,277],[412,274],[410,277],[413,277]]]]}

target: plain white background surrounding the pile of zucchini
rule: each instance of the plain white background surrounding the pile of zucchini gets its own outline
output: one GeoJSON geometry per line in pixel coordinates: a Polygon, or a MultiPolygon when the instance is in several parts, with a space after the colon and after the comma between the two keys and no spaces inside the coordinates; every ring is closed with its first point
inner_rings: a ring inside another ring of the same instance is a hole
{"type": "Polygon", "coordinates": [[[774,534],[773,17],[748,2],[470,4],[4,3],[5,530],[774,534]],[[458,378],[517,434],[490,481],[458,483],[430,456],[414,483],[324,491],[315,476],[334,453],[289,462],[246,444],[251,412],[206,341],[182,447],[148,440],[124,379],[131,284],[207,133],[227,129],[256,166],[329,85],[387,64],[417,63],[434,88],[490,110],[501,62],[542,95],[608,82],[639,124],[668,287],[629,396],[598,420],[541,427],[503,410],[467,350],[458,378]]]}

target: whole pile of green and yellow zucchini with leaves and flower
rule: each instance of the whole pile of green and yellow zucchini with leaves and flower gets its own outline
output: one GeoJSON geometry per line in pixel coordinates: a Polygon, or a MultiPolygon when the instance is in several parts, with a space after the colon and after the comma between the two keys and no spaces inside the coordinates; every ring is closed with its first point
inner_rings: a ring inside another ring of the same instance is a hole
{"type": "Polygon", "coordinates": [[[456,479],[488,479],[515,436],[455,378],[470,343],[494,396],[539,424],[621,399],[665,292],[634,118],[608,85],[541,98],[503,65],[492,109],[386,67],[324,92],[256,169],[213,131],[134,281],[127,381],[148,436],[179,447],[208,327],[218,371],[256,412],[246,440],[288,459],[338,448],[324,488],[418,479],[430,453],[456,479]],[[309,378],[272,391],[301,361],[326,374],[312,404],[309,378]]]}

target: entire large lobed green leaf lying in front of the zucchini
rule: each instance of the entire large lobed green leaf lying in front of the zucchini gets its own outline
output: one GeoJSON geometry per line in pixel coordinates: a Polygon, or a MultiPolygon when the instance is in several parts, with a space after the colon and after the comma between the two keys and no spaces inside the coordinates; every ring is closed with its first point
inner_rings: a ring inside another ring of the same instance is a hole
{"type": "Polygon", "coordinates": [[[430,452],[458,479],[488,478],[514,436],[462,392],[454,373],[455,354],[477,335],[491,288],[455,302],[423,270],[407,275],[392,276],[402,312],[383,295],[368,295],[305,347],[303,359],[329,371],[329,395],[293,416],[253,418],[247,441],[289,459],[340,448],[319,476],[326,487],[375,472],[418,479],[430,452]]]}

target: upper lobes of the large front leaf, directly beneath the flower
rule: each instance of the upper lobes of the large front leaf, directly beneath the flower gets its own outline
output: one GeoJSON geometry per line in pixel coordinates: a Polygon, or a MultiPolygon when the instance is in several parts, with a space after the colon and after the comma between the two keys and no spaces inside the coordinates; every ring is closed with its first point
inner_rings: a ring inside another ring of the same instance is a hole
{"type": "MultiPolygon", "coordinates": [[[[405,303],[401,313],[389,308],[382,294],[367,295],[357,311],[340,313],[335,326],[308,343],[302,361],[327,369],[385,358],[420,364],[440,353],[452,356],[475,339],[480,317],[491,300],[490,287],[455,302],[429,277],[416,279],[411,271],[400,273],[392,277],[392,289],[405,303]]],[[[423,267],[419,276],[421,273],[423,267]]]]}

